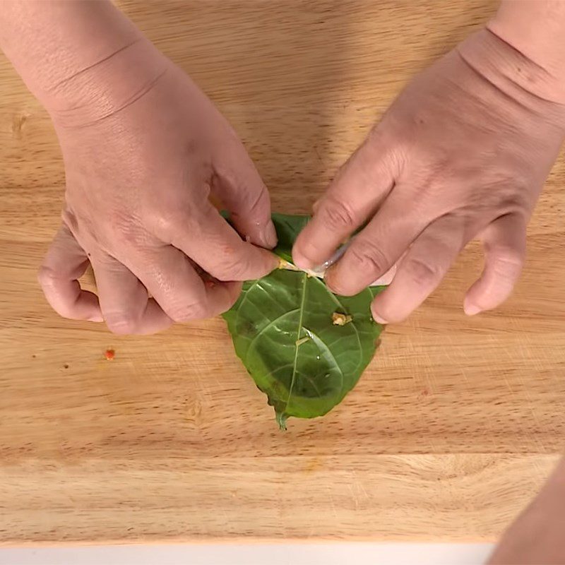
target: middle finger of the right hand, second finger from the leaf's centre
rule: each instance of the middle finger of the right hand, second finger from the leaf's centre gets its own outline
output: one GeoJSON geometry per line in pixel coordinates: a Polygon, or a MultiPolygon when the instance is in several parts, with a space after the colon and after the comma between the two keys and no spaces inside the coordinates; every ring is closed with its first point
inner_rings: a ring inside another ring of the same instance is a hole
{"type": "Polygon", "coordinates": [[[338,295],[361,292],[379,279],[400,259],[408,246],[427,227],[427,214],[406,198],[410,192],[399,189],[386,199],[340,260],[328,269],[326,281],[338,295]]]}

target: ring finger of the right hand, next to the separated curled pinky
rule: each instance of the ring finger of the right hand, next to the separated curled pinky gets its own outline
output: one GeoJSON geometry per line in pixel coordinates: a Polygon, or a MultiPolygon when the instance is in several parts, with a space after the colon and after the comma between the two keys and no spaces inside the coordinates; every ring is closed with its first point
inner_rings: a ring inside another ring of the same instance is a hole
{"type": "Polygon", "coordinates": [[[410,246],[390,286],[371,305],[379,323],[400,322],[424,302],[446,275],[470,234],[460,218],[439,218],[410,246]]]}

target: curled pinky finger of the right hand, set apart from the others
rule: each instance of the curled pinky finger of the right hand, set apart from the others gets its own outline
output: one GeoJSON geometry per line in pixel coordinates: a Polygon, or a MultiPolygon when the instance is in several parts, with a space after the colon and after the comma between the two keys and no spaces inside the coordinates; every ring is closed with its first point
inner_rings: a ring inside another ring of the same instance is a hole
{"type": "Polygon", "coordinates": [[[517,214],[501,216],[484,230],[484,270],[467,292],[465,314],[496,308],[510,296],[525,260],[525,230],[526,221],[517,214]]]}

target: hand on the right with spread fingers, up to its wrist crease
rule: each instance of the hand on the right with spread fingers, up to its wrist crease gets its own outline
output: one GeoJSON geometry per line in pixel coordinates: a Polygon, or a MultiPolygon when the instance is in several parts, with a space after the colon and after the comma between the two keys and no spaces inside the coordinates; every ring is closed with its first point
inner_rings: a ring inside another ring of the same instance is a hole
{"type": "Polygon", "coordinates": [[[480,237],[485,265],[465,312],[496,307],[521,272],[525,228],[563,139],[565,100],[552,92],[547,72],[492,32],[470,37],[405,88],[340,169],[295,263],[316,268],[368,221],[326,280],[353,295],[398,262],[371,307],[396,322],[480,237]]]}

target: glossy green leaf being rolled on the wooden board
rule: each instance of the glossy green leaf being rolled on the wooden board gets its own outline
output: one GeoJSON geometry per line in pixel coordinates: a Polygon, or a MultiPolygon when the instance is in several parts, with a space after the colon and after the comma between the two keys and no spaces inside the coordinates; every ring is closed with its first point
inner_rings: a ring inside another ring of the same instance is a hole
{"type": "MultiPolygon", "coordinates": [[[[286,261],[292,261],[292,244],[308,219],[273,214],[275,253],[286,261]]],[[[340,297],[323,280],[292,270],[244,283],[224,318],[238,357],[268,396],[281,428],[290,416],[326,414],[355,386],[382,330],[369,309],[382,289],[340,297]],[[334,317],[343,325],[335,325],[334,317]]]]}

